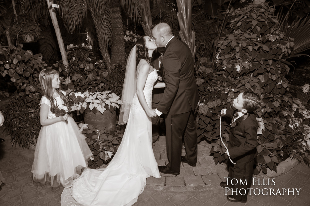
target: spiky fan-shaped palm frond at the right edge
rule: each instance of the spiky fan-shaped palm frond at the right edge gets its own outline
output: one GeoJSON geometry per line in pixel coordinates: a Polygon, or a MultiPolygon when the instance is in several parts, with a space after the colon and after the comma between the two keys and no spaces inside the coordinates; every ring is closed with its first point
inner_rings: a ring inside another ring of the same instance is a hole
{"type": "Polygon", "coordinates": [[[287,37],[294,39],[290,57],[310,49],[310,19],[299,19],[297,22],[293,22],[290,27],[287,25],[284,32],[287,37]]]}

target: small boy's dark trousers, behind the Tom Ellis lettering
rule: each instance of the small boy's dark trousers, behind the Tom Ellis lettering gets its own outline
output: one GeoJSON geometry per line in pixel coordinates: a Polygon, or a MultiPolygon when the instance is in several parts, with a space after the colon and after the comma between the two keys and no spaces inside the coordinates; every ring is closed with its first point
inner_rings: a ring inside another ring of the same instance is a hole
{"type": "MultiPolygon", "coordinates": [[[[234,160],[232,161],[235,162],[234,160]]],[[[247,195],[249,192],[248,188],[250,188],[252,184],[253,166],[254,166],[254,159],[246,163],[236,162],[236,164],[232,164],[228,158],[228,168],[229,168],[228,178],[230,178],[228,184],[234,188],[233,189],[234,192],[232,193],[232,197],[234,199],[239,201],[245,201],[247,199],[247,195]],[[232,179],[237,179],[238,182],[236,182],[236,180],[232,181],[232,179]],[[241,180],[242,183],[244,183],[244,185],[241,183],[241,180]],[[240,189],[242,188],[246,190],[246,194],[244,194],[245,193],[244,190],[240,191],[240,189]],[[235,192],[236,189],[237,189],[237,195],[235,192]],[[242,195],[240,194],[240,192],[242,195]]]]}

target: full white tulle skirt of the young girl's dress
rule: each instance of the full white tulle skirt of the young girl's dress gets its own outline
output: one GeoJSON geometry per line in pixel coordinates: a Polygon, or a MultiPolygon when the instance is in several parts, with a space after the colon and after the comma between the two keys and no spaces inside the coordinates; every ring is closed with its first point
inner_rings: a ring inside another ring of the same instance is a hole
{"type": "Polygon", "coordinates": [[[68,124],[60,121],[42,126],[34,153],[33,180],[49,181],[52,187],[70,187],[92,156],[72,117],[68,117],[68,124]]]}

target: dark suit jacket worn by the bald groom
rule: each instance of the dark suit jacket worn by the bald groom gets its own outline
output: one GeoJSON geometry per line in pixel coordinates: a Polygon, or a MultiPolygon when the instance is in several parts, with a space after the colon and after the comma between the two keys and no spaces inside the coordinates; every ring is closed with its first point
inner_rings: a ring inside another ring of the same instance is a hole
{"type": "Polygon", "coordinates": [[[169,115],[194,111],[199,95],[189,47],[173,37],[166,46],[162,65],[166,88],[157,110],[169,115]]]}

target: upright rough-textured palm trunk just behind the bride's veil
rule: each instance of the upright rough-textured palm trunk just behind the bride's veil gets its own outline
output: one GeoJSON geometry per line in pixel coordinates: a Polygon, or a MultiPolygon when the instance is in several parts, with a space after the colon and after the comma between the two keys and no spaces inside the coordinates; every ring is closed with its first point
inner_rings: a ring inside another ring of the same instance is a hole
{"type": "Polygon", "coordinates": [[[123,31],[123,22],[119,6],[112,8],[113,21],[113,41],[111,47],[111,61],[112,64],[125,64],[125,40],[123,31]]]}

